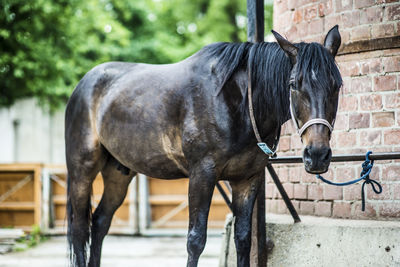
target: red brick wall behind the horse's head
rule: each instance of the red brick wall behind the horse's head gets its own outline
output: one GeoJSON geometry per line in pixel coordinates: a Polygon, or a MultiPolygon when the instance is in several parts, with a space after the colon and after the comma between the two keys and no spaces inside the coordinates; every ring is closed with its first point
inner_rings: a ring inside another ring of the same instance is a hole
{"type": "MultiPolygon", "coordinates": [[[[400,35],[400,3],[390,0],[275,0],[274,29],[290,41],[322,42],[339,25],[342,44],[400,35]]],[[[331,146],[333,154],[400,152],[400,48],[336,57],[344,86],[331,146]]],[[[278,155],[301,155],[302,143],[292,122],[281,135],[278,155]]],[[[361,184],[325,185],[297,165],[275,165],[300,214],[338,218],[400,218],[400,161],[375,162],[371,177],[383,193],[367,188],[366,211],[361,211],[361,184]]],[[[361,162],[332,163],[325,174],[336,182],[359,177],[361,162]]],[[[267,174],[267,212],[288,213],[267,174]]]]}

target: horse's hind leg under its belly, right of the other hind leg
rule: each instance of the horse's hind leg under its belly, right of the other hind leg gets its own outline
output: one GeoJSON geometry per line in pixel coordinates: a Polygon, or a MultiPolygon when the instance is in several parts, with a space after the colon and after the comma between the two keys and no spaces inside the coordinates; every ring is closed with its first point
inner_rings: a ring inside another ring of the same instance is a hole
{"type": "Polygon", "coordinates": [[[110,228],[114,212],[125,199],[128,185],[136,174],[127,169],[127,173],[118,170],[119,163],[112,156],[101,170],[104,181],[104,193],[99,206],[93,214],[89,266],[100,266],[103,239],[110,228]]]}

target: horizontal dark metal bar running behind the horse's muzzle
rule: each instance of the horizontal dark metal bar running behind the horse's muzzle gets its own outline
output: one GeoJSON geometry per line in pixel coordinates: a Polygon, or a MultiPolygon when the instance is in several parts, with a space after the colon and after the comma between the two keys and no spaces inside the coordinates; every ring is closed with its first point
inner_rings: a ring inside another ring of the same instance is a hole
{"type": "MultiPolygon", "coordinates": [[[[369,158],[371,160],[400,159],[400,152],[373,153],[369,156],[369,158]]],[[[336,155],[332,156],[331,162],[364,161],[364,160],[365,160],[365,154],[336,155]]],[[[302,162],[303,158],[301,156],[278,157],[269,159],[269,163],[271,164],[302,163],[302,162]]]]}

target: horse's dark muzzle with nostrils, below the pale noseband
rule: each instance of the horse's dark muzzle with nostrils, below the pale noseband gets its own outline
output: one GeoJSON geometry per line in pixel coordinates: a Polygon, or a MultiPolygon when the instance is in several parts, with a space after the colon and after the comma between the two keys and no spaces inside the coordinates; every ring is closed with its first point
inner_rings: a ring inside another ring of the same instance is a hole
{"type": "Polygon", "coordinates": [[[304,167],[312,174],[327,172],[331,158],[332,150],[328,146],[306,146],[303,152],[304,167]]]}

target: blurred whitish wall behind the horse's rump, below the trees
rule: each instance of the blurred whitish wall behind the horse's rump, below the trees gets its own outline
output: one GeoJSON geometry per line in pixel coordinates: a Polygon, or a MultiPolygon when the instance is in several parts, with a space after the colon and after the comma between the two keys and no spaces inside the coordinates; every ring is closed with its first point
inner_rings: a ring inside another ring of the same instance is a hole
{"type": "Polygon", "coordinates": [[[65,163],[64,108],[50,115],[34,99],[0,109],[0,163],[65,163]]]}

